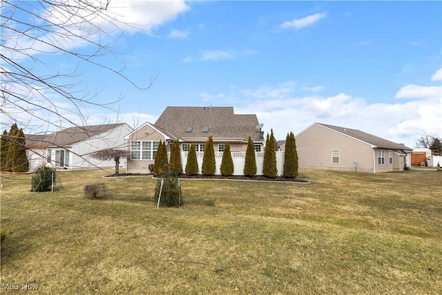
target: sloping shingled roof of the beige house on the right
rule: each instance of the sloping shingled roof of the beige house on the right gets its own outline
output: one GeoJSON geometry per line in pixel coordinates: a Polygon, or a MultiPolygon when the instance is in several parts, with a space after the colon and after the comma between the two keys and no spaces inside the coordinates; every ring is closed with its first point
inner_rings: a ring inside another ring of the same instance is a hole
{"type": "Polygon", "coordinates": [[[367,144],[372,144],[373,146],[381,149],[394,149],[399,151],[412,151],[409,147],[405,146],[404,144],[396,144],[396,142],[390,142],[390,140],[384,140],[381,137],[377,137],[375,135],[359,131],[357,129],[349,129],[345,127],[338,127],[328,124],[322,124],[322,123],[315,123],[320,126],[323,126],[328,129],[332,129],[338,133],[342,133],[344,135],[347,135],[349,137],[353,137],[356,140],[361,140],[363,142],[366,142],[367,144]]]}

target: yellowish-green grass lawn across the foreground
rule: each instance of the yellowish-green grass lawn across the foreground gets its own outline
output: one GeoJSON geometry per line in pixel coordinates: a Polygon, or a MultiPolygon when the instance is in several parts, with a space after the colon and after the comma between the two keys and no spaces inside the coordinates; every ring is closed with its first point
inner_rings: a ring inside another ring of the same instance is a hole
{"type": "Polygon", "coordinates": [[[59,172],[31,193],[2,175],[1,293],[442,294],[442,173],[300,173],[182,180],[184,205],[160,209],[148,176],[59,172]]]}

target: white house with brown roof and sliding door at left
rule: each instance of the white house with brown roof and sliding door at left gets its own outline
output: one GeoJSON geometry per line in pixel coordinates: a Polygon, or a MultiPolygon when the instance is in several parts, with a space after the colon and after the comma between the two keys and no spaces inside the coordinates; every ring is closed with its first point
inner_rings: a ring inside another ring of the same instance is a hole
{"type": "Polygon", "coordinates": [[[44,135],[26,135],[30,171],[39,166],[63,169],[115,166],[113,160],[94,159],[103,149],[126,149],[124,136],[133,131],[126,123],[76,126],[44,135]]]}

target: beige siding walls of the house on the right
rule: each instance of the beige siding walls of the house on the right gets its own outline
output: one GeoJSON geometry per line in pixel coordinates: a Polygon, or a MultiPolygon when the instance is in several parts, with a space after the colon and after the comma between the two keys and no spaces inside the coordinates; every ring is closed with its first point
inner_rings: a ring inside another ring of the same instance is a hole
{"type": "Polygon", "coordinates": [[[318,125],[296,137],[296,149],[300,168],[355,171],[353,163],[357,162],[357,171],[373,173],[373,161],[377,162],[369,144],[318,125]],[[333,150],[339,151],[338,164],[332,163],[333,150]]]}

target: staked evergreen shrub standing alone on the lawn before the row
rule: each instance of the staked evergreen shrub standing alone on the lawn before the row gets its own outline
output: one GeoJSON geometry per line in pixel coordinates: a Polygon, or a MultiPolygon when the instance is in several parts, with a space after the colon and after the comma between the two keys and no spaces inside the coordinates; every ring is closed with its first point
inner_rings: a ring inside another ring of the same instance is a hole
{"type": "Polygon", "coordinates": [[[158,175],[160,179],[157,180],[155,186],[155,205],[158,204],[160,198],[160,205],[166,207],[173,207],[182,203],[182,193],[180,181],[177,173],[171,170],[170,166],[166,166],[164,171],[158,175]],[[161,182],[162,187],[161,187],[161,182]]]}

